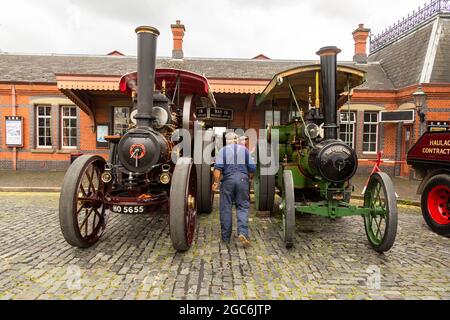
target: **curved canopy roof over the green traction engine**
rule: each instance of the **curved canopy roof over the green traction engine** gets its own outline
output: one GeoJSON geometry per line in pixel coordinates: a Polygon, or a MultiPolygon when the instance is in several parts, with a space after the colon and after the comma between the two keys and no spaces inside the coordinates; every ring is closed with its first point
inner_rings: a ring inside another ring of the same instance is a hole
{"type": "MultiPolygon", "coordinates": [[[[289,100],[291,85],[295,97],[298,101],[307,102],[309,96],[309,88],[311,87],[311,97],[314,102],[316,96],[316,74],[320,77],[320,64],[301,66],[278,73],[273,77],[264,91],[256,100],[256,105],[261,105],[266,101],[289,100]]],[[[337,92],[342,94],[347,92],[348,85],[350,89],[355,88],[365,81],[366,72],[348,66],[339,65],[337,67],[337,92]]],[[[319,92],[323,92],[319,81],[319,92]]],[[[339,101],[338,105],[342,105],[345,101],[339,101]]]]}

